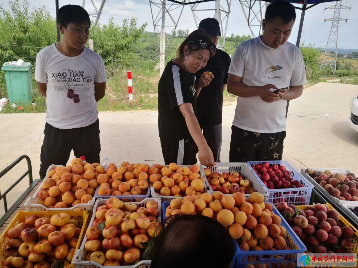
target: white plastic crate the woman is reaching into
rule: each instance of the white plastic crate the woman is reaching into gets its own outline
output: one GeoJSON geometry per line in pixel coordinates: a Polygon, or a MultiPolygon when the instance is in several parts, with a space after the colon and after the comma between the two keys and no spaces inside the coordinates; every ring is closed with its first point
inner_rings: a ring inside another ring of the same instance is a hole
{"type": "MultiPolygon", "coordinates": [[[[203,165],[201,165],[201,167],[202,167],[203,170],[204,170],[204,168],[206,168],[203,165]]],[[[269,192],[267,192],[267,190],[265,190],[263,188],[262,184],[255,177],[255,175],[253,174],[252,170],[250,169],[250,167],[248,166],[248,164],[246,162],[242,162],[242,163],[216,163],[216,166],[212,167],[210,169],[211,169],[211,171],[213,173],[214,172],[219,172],[219,173],[227,172],[227,173],[230,173],[232,171],[236,171],[237,173],[239,173],[245,179],[250,180],[251,187],[253,189],[255,189],[258,193],[261,193],[263,195],[263,197],[265,198],[265,201],[267,201],[267,198],[269,197],[269,192]]],[[[208,187],[210,193],[212,194],[214,191],[210,187],[207,177],[205,176],[204,179],[205,179],[205,183],[207,184],[207,187],[208,187]]],[[[225,194],[225,195],[232,195],[232,194],[225,194]]],[[[250,194],[245,194],[245,198],[250,198],[250,194]]]]}

